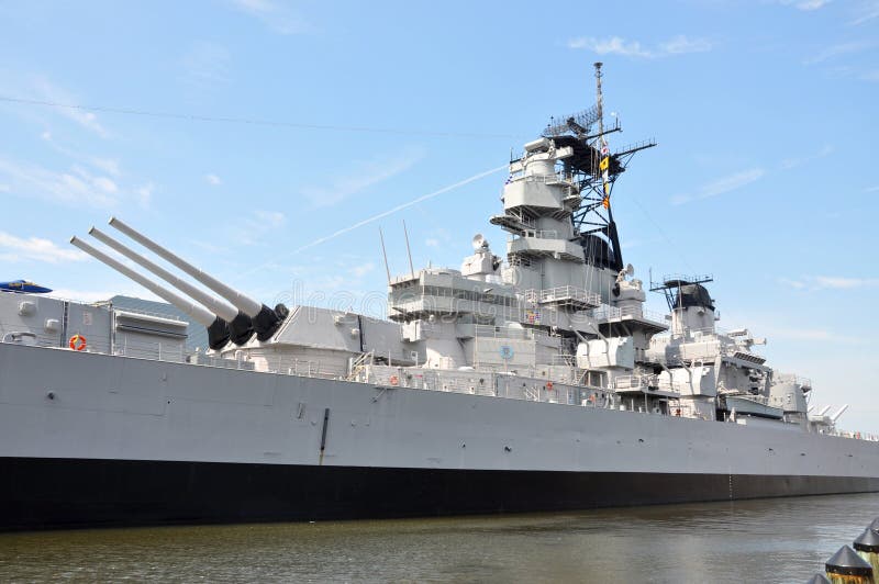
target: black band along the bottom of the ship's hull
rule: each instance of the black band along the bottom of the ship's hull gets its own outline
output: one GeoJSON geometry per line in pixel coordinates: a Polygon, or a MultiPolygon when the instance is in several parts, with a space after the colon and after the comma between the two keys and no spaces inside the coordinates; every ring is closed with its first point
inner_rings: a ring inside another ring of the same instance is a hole
{"type": "Polygon", "coordinates": [[[879,478],[0,458],[0,530],[570,510],[879,491],[879,478]]]}

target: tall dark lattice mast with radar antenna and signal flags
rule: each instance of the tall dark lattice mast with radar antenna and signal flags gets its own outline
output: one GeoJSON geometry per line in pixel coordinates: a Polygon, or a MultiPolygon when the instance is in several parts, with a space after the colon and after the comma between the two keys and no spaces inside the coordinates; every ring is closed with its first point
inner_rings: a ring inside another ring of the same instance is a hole
{"type": "Polygon", "coordinates": [[[656,146],[656,142],[647,139],[611,153],[608,135],[622,132],[622,127],[615,115],[613,125],[604,126],[601,66],[601,63],[594,64],[596,104],[559,117],[564,122],[556,122],[554,117],[543,136],[552,138],[557,147],[570,146],[574,150],[574,155],[563,161],[564,173],[579,187],[581,202],[571,215],[571,222],[587,262],[620,271],[624,263],[611,210],[613,186],[635,153],[656,146]],[[590,134],[596,124],[598,133],[590,134]]]}

